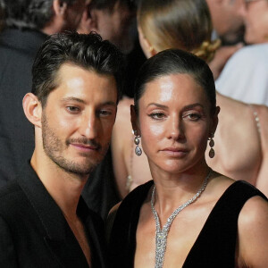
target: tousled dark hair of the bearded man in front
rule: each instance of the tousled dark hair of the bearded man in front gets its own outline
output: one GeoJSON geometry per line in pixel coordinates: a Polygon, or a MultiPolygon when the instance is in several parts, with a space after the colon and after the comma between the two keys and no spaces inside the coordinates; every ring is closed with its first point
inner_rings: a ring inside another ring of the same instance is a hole
{"type": "Polygon", "coordinates": [[[32,67],[32,93],[46,106],[47,96],[57,88],[57,74],[63,63],[72,63],[88,71],[112,75],[118,99],[124,71],[124,56],[116,46],[96,33],[88,35],[64,32],[52,35],[38,50],[32,67]]]}

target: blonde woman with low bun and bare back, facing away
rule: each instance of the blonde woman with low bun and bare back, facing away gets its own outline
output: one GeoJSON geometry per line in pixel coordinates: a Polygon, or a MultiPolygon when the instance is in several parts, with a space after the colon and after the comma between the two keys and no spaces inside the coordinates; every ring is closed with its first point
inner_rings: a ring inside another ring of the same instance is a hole
{"type": "MultiPolygon", "coordinates": [[[[211,59],[218,44],[211,41],[212,29],[205,0],[139,2],[139,39],[147,57],[167,48],[180,48],[202,57],[213,70],[211,59]]],[[[215,155],[210,158],[207,152],[207,163],[234,180],[247,180],[268,195],[268,108],[245,105],[219,93],[216,97],[222,112],[214,136],[215,155]]],[[[113,128],[113,167],[121,197],[151,179],[146,156],[137,156],[132,150],[132,103],[129,98],[121,101],[113,128]]]]}

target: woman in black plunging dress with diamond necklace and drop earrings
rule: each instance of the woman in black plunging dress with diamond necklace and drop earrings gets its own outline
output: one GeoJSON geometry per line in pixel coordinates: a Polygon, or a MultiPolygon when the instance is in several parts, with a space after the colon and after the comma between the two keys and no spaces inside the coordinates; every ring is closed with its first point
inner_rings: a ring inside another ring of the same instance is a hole
{"type": "Polygon", "coordinates": [[[141,137],[153,181],[110,214],[112,266],[267,267],[266,198],[205,161],[220,111],[206,63],[175,49],[155,54],[135,92],[135,151],[141,137]]]}

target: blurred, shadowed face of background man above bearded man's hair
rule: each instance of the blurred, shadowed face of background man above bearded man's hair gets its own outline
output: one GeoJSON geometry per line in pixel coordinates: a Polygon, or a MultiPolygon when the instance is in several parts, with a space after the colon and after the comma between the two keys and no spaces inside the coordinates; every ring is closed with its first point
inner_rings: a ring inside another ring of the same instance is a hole
{"type": "Polygon", "coordinates": [[[98,17],[98,34],[118,46],[123,53],[129,53],[133,48],[131,26],[135,19],[135,12],[127,4],[117,1],[113,12],[96,10],[98,17]]]}

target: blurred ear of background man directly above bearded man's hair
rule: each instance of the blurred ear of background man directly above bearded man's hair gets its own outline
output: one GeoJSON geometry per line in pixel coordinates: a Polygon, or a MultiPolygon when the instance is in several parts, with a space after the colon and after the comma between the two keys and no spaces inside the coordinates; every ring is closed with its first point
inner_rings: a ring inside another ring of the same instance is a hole
{"type": "Polygon", "coordinates": [[[80,26],[77,29],[77,31],[80,34],[88,34],[90,31],[98,32],[97,18],[98,16],[96,8],[92,7],[92,4],[88,4],[87,8],[84,10],[82,14],[80,26]]]}

